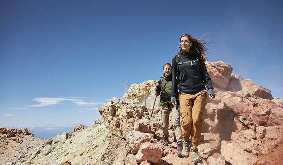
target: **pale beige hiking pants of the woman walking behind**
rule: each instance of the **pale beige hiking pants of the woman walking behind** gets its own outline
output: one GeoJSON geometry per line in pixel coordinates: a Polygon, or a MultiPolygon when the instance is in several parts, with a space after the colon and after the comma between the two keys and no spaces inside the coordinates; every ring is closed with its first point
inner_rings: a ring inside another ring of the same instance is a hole
{"type": "Polygon", "coordinates": [[[169,127],[169,115],[171,109],[171,117],[173,121],[173,128],[175,131],[175,137],[178,141],[182,141],[182,131],[180,125],[180,111],[173,107],[172,103],[169,102],[169,108],[167,104],[160,104],[161,105],[161,120],[162,120],[162,130],[164,137],[168,137],[168,127],[169,127]]]}

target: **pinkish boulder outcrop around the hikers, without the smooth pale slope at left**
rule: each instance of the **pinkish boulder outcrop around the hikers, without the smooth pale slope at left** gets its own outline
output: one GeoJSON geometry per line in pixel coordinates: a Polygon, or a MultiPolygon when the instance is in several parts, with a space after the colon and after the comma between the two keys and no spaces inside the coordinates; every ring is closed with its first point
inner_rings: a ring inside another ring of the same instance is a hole
{"type": "MultiPolygon", "coordinates": [[[[207,99],[202,139],[198,146],[202,157],[199,164],[254,165],[262,159],[261,156],[282,150],[283,146],[278,144],[283,139],[283,101],[274,99],[270,90],[232,73],[229,64],[218,61],[207,62],[206,65],[216,98],[212,102],[207,99]]],[[[169,126],[172,144],[168,147],[161,145],[163,137],[158,103],[149,122],[151,106],[144,106],[144,96],[147,97],[146,102],[153,102],[155,81],[133,84],[131,88],[134,92],[127,92],[127,105],[124,96],[114,98],[99,108],[112,141],[111,150],[106,149],[104,155],[115,155],[107,157],[102,164],[188,165],[190,154],[189,158],[175,155],[176,139],[172,124],[169,126]]],[[[264,160],[259,162],[264,164],[264,160]]]]}

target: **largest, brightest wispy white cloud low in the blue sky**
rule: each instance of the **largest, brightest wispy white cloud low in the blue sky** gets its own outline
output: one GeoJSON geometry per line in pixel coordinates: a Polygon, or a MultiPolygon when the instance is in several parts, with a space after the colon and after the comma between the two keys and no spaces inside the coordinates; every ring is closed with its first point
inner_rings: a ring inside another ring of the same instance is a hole
{"type": "Polygon", "coordinates": [[[48,98],[48,97],[35,98],[33,100],[40,102],[40,104],[31,105],[32,107],[43,107],[43,106],[49,106],[49,105],[57,105],[57,104],[60,104],[60,102],[62,102],[62,101],[81,101],[80,99],[48,98]]]}

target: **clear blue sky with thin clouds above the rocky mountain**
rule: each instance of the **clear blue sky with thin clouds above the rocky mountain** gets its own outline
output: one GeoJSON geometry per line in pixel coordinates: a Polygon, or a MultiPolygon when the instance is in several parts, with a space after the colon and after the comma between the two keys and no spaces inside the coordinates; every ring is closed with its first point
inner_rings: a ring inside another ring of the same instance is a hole
{"type": "Polygon", "coordinates": [[[90,125],[158,79],[183,33],[283,98],[281,0],[0,0],[0,126],[90,125]]]}

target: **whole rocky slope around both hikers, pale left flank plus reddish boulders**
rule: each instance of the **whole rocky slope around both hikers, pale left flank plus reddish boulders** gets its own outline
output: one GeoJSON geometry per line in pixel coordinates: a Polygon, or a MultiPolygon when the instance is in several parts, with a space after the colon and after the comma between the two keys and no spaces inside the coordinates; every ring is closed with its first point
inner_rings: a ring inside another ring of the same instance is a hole
{"type": "MultiPolygon", "coordinates": [[[[283,162],[283,100],[232,73],[224,62],[208,62],[216,98],[207,99],[199,165],[280,165],[283,162]]],[[[160,107],[150,118],[155,81],[133,84],[126,97],[99,108],[103,121],[78,127],[39,145],[15,164],[27,165],[193,165],[178,158],[173,125],[162,146],[160,107]],[[146,98],[146,99],[145,99],[146,98]],[[146,104],[145,104],[146,103],[146,104]],[[22,163],[21,163],[22,162],[22,163]]]]}

